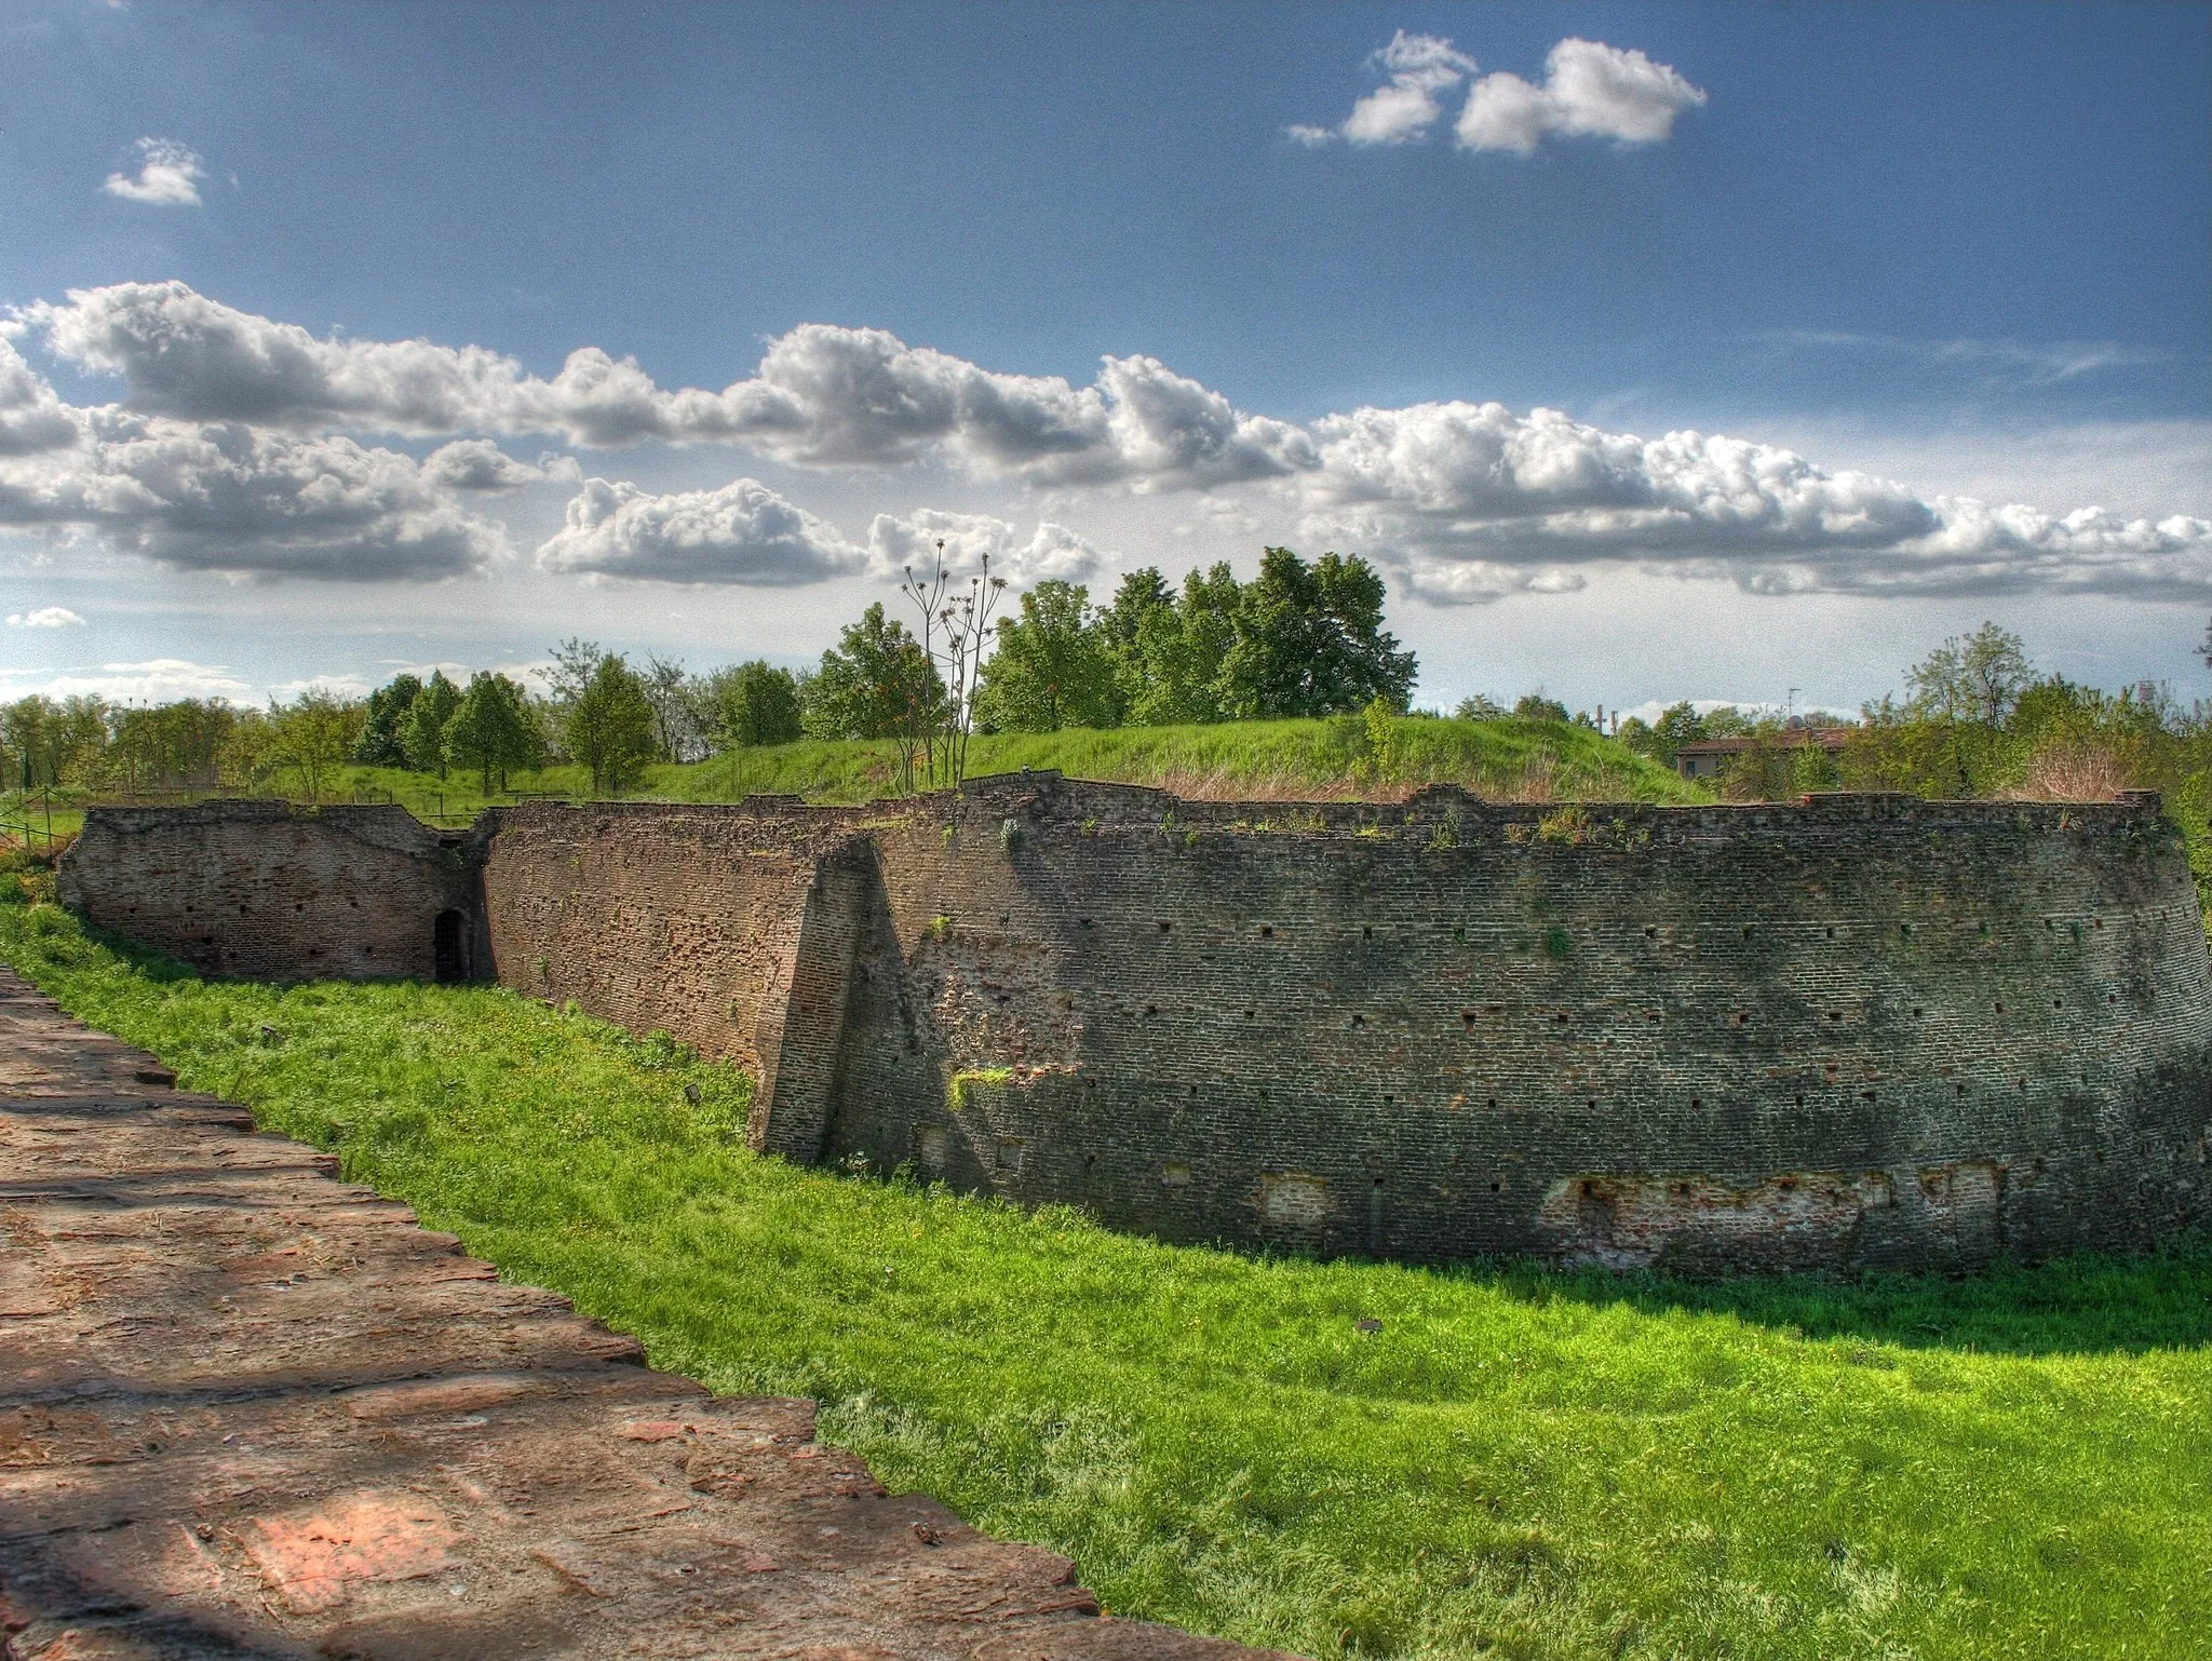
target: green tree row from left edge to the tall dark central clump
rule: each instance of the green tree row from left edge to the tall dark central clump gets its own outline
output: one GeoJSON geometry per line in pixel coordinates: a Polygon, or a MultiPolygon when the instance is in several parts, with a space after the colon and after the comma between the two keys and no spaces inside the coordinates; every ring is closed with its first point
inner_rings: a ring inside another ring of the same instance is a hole
{"type": "Polygon", "coordinates": [[[633,664],[568,637],[542,692],[493,670],[467,686],[434,670],[365,699],[310,688],[265,710],[27,697],[0,706],[0,787],[259,792],[283,776],[314,801],[356,765],[460,770],[491,794],[568,761],[606,794],[657,761],[801,737],[896,739],[914,787],[958,779],[969,732],[1338,714],[1378,699],[1405,710],[1413,688],[1413,655],[1383,626],[1383,577],[1356,557],[1267,549],[1252,582],[1217,564],[1181,588],[1146,568],[1106,606],[1082,584],[1040,582],[995,615],[1004,591],[989,562],[962,584],[940,549],[900,588],[914,628],[872,604],[796,672],[757,659],[695,675],[677,657],[633,664]]]}

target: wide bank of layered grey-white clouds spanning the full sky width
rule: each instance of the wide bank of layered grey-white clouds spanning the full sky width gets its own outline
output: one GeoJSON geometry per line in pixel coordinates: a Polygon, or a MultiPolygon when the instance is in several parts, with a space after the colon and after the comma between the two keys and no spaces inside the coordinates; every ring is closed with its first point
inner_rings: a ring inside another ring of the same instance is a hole
{"type": "MultiPolygon", "coordinates": [[[[1546,86],[1586,88],[1575,60],[1562,60],[1573,44],[1553,51],[1546,86]]],[[[1440,75],[1473,73],[1431,46],[1416,38],[1387,60],[1385,91],[1433,102],[1440,75]]],[[[1369,126],[1411,119],[1387,108],[1369,126]]],[[[1608,119],[1630,126],[1626,115],[1608,119]]],[[[482,500],[549,482],[575,487],[566,524],[535,551],[553,573],[792,586],[896,571],[916,537],[936,535],[964,555],[989,549],[1018,579],[1106,568],[1093,544],[1051,520],[1022,542],[987,515],[878,515],[863,546],[752,478],[653,493],[586,478],[571,456],[529,464],[500,449],[524,436],[588,451],[721,445],[814,471],[927,467],[933,480],[1077,495],[1272,493],[1301,535],[1376,560],[1431,604],[1564,593],[1604,564],[1761,595],[2212,595],[2208,520],[1922,498],[1867,473],[1823,471],[1778,445],[1699,431],[1639,438],[1500,403],[1358,407],[1301,425],[1239,409],[1150,356],[1108,356],[1097,380],[1077,387],[909,347],[883,330],[807,323],[770,341],[743,380],[666,389],[599,347],[571,352],[560,374],[540,378],[478,345],[321,338],[181,281],[71,290],[0,325],[0,529],[93,533],[175,568],[352,582],[482,575],[513,557],[482,500]],[[15,341],[119,378],[122,398],[64,403],[15,341]],[[449,442],[416,460],[363,442],[380,436],[449,442]]]]}

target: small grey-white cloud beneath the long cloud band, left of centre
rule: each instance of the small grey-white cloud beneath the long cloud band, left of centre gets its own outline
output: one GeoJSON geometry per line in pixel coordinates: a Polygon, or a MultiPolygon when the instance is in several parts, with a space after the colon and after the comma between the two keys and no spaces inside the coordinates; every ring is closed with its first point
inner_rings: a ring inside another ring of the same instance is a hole
{"type": "Polygon", "coordinates": [[[865,557],[834,524],[752,478],[668,495],[588,478],[566,520],[538,549],[546,571],[776,588],[852,573],[865,557]]]}

